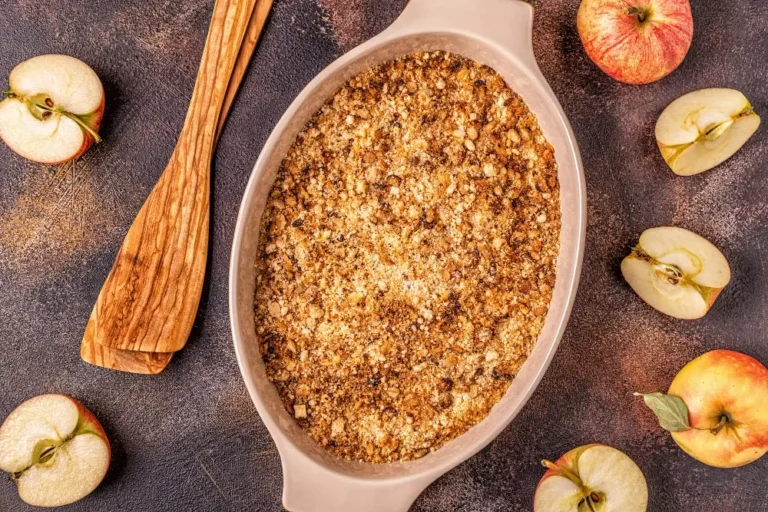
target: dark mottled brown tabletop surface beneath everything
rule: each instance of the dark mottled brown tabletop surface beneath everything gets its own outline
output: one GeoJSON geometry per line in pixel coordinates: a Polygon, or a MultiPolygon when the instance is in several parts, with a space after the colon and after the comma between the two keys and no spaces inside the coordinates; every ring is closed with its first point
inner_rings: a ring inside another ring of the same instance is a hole
{"type": "MultiPolygon", "coordinates": [[[[280,509],[280,462],[240,379],[226,305],[237,207],[259,150],[304,85],[393,20],[405,0],[277,0],[215,161],[209,286],[197,328],[160,376],[89,366],[83,327],[114,253],[181,128],[212,0],[5,0],[0,74],[40,53],[91,64],[107,92],[105,142],[74,166],[41,167],[0,147],[0,416],[24,399],[82,400],[111,436],[105,483],[68,510],[280,509]]],[[[585,56],[578,0],[538,0],[534,46],[581,145],[589,190],[582,285],[568,331],[531,401],[483,452],[430,487],[418,511],[530,510],[538,461],[588,442],[634,458],[651,511],[766,512],[768,458],[706,467],[679,450],[633,390],[665,388],[712,348],[768,362],[768,131],[730,161],[680,178],[653,140],[675,97],[733,87],[768,114],[768,4],[693,0],[682,66],[643,87],[614,82],[585,56]],[[648,227],[693,229],[722,248],[733,281],[703,320],[645,306],[618,265],[648,227]]],[[[28,510],[0,485],[0,510],[28,510]]]]}

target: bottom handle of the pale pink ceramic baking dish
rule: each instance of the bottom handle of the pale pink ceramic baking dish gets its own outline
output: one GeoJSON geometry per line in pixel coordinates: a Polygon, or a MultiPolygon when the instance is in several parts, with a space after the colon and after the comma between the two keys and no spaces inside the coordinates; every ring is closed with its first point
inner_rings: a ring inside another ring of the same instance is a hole
{"type": "Polygon", "coordinates": [[[353,478],[317,464],[292,447],[281,447],[280,458],[283,507],[289,512],[408,512],[436,478],[353,478]]]}

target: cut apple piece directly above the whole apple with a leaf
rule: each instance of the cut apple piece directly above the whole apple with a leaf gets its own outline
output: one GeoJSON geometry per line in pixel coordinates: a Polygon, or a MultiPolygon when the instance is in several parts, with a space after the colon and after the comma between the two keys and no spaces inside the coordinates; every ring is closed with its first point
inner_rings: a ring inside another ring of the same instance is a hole
{"type": "Polygon", "coordinates": [[[644,231],[621,262],[621,273],[651,307],[683,320],[703,317],[731,280],[728,261],[717,247],[675,227],[644,231]]]}

